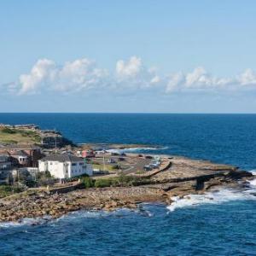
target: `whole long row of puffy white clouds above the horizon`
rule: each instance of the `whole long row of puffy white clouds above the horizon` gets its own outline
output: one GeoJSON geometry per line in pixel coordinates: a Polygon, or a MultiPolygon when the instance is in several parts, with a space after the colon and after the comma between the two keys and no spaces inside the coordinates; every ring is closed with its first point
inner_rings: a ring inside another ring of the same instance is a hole
{"type": "Polygon", "coordinates": [[[233,77],[218,77],[204,67],[191,72],[162,74],[156,67],[147,67],[143,60],[131,56],[116,62],[113,70],[98,67],[96,61],[83,58],[58,65],[53,60],[39,59],[30,72],[21,74],[14,83],[4,84],[2,91],[24,96],[44,91],[59,93],[86,93],[110,91],[125,95],[131,91],[153,91],[162,95],[181,93],[256,91],[256,73],[247,68],[233,77]]]}

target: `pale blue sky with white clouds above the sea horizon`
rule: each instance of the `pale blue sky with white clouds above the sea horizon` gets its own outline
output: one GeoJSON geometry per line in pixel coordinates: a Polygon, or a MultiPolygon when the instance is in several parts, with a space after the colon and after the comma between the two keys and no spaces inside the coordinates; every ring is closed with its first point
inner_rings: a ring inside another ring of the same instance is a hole
{"type": "Polygon", "coordinates": [[[1,112],[256,113],[255,1],[0,3],[1,112]]]}

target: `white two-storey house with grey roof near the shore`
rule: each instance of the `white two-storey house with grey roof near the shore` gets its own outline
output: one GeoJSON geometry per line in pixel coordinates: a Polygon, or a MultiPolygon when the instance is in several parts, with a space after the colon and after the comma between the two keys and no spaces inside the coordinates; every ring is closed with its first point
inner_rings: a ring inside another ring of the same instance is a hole
{"type": "Polygon", "coordinates": [[[68,178],[92,175],[92,166],[84,163],[84,159],[72,154],[49,154],[38,160],[39,172],[49,171],[53,177],[68,178]]]}

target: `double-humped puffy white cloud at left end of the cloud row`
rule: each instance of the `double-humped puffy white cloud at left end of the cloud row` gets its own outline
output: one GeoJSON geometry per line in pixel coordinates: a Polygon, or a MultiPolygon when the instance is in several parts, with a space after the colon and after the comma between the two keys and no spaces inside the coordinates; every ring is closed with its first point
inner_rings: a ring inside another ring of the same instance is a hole
{"type": "Polygon", "coordinates": [[[95,62],[88,59],[66,62],[62,67],[54,61],[38,60],[28,74],[20,76],[20,94],[39,90],[79,91],[103,85],[108,72],[96,68],[95,62]]]}

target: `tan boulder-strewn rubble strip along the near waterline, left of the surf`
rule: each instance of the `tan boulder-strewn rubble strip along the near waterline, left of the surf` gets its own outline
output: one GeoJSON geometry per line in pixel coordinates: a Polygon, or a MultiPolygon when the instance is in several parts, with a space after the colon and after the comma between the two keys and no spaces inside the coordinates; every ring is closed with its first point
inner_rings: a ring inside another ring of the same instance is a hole
{"type": "Polygon", "coordinates": [[[67,194],[50,194],[45,191],[21,193],[0,201],[0,222],[17,221],[46,215],[59,218],[79,209],[113,211],[118,207],[136,208],[138,201],[159,201],[157,189],[140,187],[81,189],[67,194]]]}

